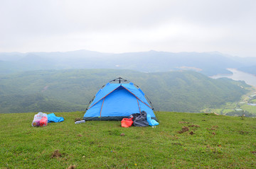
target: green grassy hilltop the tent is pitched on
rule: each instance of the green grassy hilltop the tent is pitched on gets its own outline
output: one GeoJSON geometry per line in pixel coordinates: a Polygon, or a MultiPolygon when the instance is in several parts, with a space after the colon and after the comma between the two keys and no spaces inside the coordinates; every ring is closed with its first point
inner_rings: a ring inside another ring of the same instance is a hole
{"type": "Polygon", "coordinates": [[[159,112],[156,128],[122,128],[58,112],[64,122],[31,127],[33,115],[0,114],[0,168],[256,168],[255,118],[159,112]]]}

